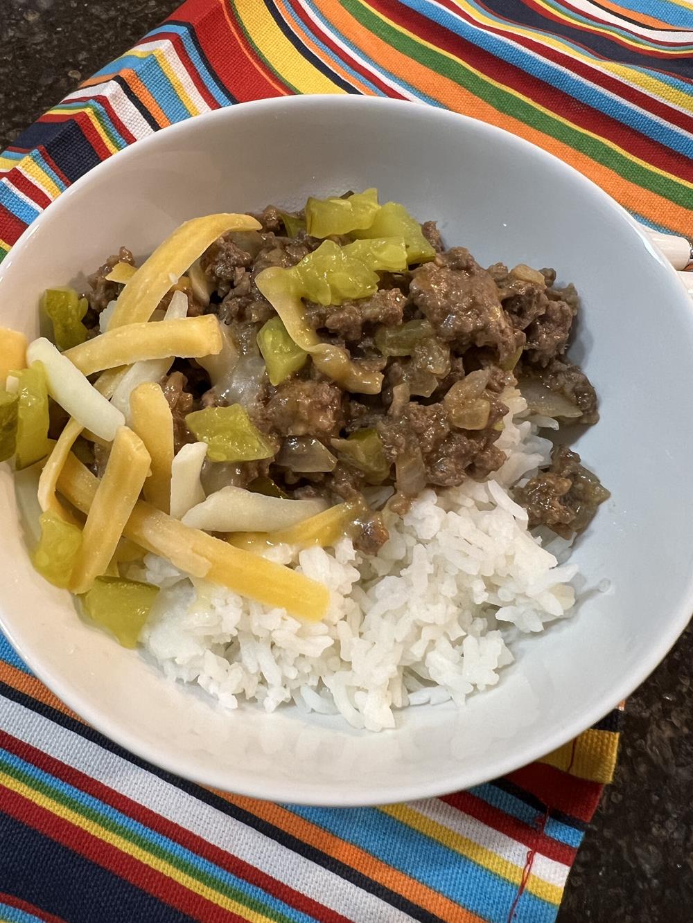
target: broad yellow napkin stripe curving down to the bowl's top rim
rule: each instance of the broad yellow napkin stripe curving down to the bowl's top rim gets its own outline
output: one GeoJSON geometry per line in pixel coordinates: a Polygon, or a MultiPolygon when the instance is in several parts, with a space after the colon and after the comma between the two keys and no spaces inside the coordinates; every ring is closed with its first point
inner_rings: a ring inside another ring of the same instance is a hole
{"type": "Polygon", "coordinates": [[[299,93],[346,94],[346,90],[337,87],[296,50],[263,3],[236,0],[235,8],[250,40],[260,49],[275,73],[286,78],[299,93]]]}

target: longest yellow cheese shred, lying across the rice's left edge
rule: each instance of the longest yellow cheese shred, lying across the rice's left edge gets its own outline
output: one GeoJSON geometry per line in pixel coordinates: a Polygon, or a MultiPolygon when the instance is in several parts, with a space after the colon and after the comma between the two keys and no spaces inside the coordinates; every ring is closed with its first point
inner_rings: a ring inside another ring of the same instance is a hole
{"type": "MultiPolygon", "coordinates": [[[[87,512],[98,486],[98,479],[69,455],[58,481],[61,494],[87,512]]],[[[220,583],[263,605],[280,606],[309,621],[319,621],[327,611],[330,594],[322,583],[199,529],[190,529],[143,500],[135,504],[123,533],[191,576],[220,583]]]]}

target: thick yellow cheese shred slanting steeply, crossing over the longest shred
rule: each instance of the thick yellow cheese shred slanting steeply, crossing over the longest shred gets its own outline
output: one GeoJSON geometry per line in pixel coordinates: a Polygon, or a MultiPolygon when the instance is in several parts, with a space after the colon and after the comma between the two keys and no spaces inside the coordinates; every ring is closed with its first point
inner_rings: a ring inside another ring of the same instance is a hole
{"type": "Polygon", "coordinates": [[[82,544],[70,579],[73,593],[86,593],[93,581],[108,569],[151,462],[140,437],[128,426],[121,426],[84,523],[82,544]]]}

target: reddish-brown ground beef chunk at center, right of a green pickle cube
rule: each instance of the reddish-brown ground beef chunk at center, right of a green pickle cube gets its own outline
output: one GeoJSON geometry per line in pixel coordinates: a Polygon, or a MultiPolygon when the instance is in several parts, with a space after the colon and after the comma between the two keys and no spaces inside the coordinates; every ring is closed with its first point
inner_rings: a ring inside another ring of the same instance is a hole
{"type": "Polygon", "coordinates": [[[344,425],[343,393],[327,379],[289,378],[270,389],[264,414],[279,436],[337,437],[344,425]]]}

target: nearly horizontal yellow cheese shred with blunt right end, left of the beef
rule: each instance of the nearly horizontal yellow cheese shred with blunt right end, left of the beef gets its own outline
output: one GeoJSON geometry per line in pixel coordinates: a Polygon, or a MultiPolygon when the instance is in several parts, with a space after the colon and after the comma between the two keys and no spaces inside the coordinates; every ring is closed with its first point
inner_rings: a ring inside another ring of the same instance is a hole
{"type": "Polygon", "coordinates": [[[219,322],[213,314],[207,314],[162,320],[158,324],[128,324],[73,346],[63,355],[83,375],[93,375],[104,368],[131,366],[143,359],[165,359],[172,355],[197,359],[216,355],[222,343],[219,322]]]}

